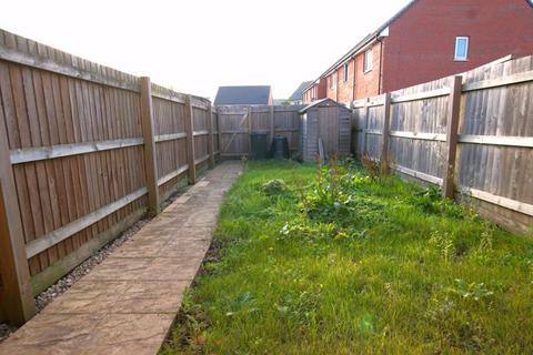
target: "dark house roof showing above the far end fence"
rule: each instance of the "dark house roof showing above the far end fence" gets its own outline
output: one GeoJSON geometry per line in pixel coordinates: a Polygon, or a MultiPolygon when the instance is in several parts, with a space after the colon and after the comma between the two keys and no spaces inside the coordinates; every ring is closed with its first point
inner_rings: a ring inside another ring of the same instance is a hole
{"type": "Polygon", "coordinates": [[[270,92],[270,85],[219,87],[214,104],[269,104],[270,92]]]}

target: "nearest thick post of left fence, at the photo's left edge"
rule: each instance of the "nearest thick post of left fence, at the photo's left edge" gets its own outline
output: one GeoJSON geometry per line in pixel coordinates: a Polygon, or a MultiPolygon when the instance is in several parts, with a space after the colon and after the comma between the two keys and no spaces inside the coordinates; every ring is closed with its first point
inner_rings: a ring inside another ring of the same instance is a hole
{"type": "MultiPolygon", "coordinates": [[[[0,108],[1,110],[1,108],[0,108]]],[[[21,325],[36,314],[8,135],[0,118],[0,317],[21,325]]],[[[1,320],[0,320],[1,321],[1,320]]]]}

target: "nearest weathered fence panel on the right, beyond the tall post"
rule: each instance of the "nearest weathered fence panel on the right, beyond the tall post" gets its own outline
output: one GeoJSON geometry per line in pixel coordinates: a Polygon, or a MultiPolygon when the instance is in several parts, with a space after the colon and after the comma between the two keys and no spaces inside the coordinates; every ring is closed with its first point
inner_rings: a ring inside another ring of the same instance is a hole
{"type": "MultiPolygon", "coordinates": [[[[532,57],[483,67],[466,73],[463,87],[533,71],[532,57]]],[[[457,178],[460,185],[482,201],[482,212],[500,223],[523,230],[533,221],[533,150],[519,144],[533,141],[533,82],[486,88],[463,93],[457,178]],[[461,140],[469,139],[469,142],[461,140]],[[484,140],[485,144],[482,143],[484,140]],[[505,200],[502,200],[505,199],[505,200]],[[500,201],[499,201],[500,200],[500,201]],[[507,207],[501,207],[500,202],[507,207]],[[521,213],[516,210],[529,211],[521,213]]]]}

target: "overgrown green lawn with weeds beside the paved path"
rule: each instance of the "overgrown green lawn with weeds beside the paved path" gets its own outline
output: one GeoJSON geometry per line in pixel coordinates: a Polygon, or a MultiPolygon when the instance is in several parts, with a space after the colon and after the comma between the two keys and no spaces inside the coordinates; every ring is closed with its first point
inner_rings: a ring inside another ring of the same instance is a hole
{"type": "Polygon", "coordinates": [[[531,354],[531,236],[438,193],[247,163],[161,354],[531,354]]]}

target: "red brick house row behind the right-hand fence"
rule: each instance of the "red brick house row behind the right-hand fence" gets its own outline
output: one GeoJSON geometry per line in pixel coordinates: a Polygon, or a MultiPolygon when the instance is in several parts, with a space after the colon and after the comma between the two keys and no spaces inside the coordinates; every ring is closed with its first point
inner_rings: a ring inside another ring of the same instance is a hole
{"type": "Polygon", "coordinates": [[[530,0],[413,0],[331,65],[303,99],[348,103],[532,53],[530,0]]]}

